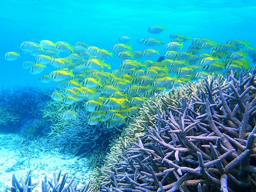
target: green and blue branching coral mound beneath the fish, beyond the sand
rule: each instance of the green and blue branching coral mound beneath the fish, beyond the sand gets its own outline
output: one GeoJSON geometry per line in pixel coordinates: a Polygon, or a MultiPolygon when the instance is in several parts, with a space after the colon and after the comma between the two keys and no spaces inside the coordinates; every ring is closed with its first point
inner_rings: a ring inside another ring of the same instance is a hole
{"type": "Polygon", "coordinates": [[[85,155],[97,148],[108,147],[110,140],[116,135],[120,135],[120,127],[106,128],[99,123],[97,125],[88,124],[88,114],[84,110],[84,101],[66,105],[62,102],[49,101],[43,110],[43,118],[51,123],[48,138],[50,141],[63,148],[64,153],[85,155]],[[76,118],[64,120],[60,118],[64,111],[72,110],[76,113],[76,118]]]}

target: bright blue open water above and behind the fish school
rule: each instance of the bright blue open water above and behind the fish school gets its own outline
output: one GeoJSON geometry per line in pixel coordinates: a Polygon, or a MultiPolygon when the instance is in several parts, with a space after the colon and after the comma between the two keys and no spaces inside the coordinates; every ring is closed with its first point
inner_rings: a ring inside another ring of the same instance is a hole
{"type": "MultiPolygon", "coordinates": [[[[0,1],[0,86],[45,86],[39,78],[20,67],[32,56],[4,60],[9,51],[19,51],[22,41],[47,39],[75,44],[86,42],[111,50],[120,36],[130,36],[134,50],[143,50],[138,38],[154,37],[168,43],[171,33],[192,38],[250,40],[256,46],[256,1],[251,0],[1,0],[0,1]],[[168,32],[150,34],[153,25],[168,32]]],[[[165,51],[160,48],[161,54],[165,51]]],[[[112,68],[120,60],[110,58],[112,68]]],[[[49,74],[51,70],[45,71],[49,74]]]]}

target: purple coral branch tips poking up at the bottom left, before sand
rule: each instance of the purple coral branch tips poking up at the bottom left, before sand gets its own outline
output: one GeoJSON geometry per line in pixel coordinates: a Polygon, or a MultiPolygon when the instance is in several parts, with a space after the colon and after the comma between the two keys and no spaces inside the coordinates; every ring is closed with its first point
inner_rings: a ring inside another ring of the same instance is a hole
{"type": "MultiPolygon", "coordinates": [[[[20,182],[16,179],[15,175],[12,176],[12,186],[7,187],[5,192],[32,192],[34,188],[38,185],[37,183],[32,183],[30,176],[31,171],[28,172],[26,179],[20,178],[20,182]]],[[[53,174],[53,181],[44,177],[42,180],[42,192],[90,192],[90,181],[87,182],[82,188],[77,188],[74,183],[75,176],[68,181],[67,174],[64,174],[62,178],[60,177],[61,171],[58,175],[53,174]]]]}

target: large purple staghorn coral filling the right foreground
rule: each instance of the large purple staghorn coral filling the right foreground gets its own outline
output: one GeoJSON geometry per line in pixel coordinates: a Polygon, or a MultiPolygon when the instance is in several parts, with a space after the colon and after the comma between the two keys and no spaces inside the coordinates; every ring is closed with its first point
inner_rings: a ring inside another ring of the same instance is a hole
{"type": "Polygon", "coordinates": [[[199,94],[175,106],[160,98],[162,108],[147,114],[154,125],[142,122],[147,134],[104,170],[102,191],[255,191],[255,74],[231,72],[222,84],[205,78],[199,94]]]}

